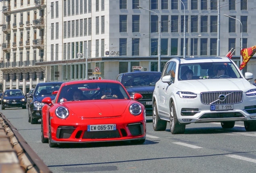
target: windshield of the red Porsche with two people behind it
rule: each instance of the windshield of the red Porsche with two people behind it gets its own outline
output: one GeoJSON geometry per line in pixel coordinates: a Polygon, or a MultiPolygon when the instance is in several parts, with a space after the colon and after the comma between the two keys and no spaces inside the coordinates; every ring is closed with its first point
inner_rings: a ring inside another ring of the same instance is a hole
{"type": "Polygon", "coordinates": [[[112,82],[88,82],[63,86],[57,103],[101,99],[130,99],[130,97],[121,84],[112,82]]]}

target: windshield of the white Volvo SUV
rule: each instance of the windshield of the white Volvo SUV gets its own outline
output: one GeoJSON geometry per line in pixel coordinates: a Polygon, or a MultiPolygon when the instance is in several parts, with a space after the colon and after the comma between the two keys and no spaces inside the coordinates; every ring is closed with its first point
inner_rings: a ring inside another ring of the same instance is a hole
{"type": "Polygon", "coordinates": [[[242,78],[231,62],[180,64],[178,80],[242,78]]]}

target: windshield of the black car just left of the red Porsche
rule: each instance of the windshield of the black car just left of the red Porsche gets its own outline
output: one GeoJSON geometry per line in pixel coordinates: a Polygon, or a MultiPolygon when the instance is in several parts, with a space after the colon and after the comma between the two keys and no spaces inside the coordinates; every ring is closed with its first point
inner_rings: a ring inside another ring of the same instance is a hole
{"type": "MultiPolygon", "coordinates": [[[[58,91],[60,89],[61,84],[47,84],[47,85],[39,85],[37,87],[37,91],[35,92],[35,96],[45,97],[52,96],[54,91],[58,91]]],[[[56,94],[54,94],[56,95],[56,94]]]]}

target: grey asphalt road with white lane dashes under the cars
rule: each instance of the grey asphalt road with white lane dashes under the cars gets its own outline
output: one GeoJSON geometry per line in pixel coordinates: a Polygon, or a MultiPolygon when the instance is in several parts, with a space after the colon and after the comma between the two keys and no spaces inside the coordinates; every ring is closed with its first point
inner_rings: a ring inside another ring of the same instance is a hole
{"type": "Polygon", "coordinates": [[[147,117],[147,139],[130,142],[60,145],[41,143],[40,121],[28,123],[27,109],[1,110],[6,118],[54,173],[255,173],[256,132],[247,132],[243,122],[233,129],[220,123],[186,126],[185,134],[154,131],[147,117]]]}

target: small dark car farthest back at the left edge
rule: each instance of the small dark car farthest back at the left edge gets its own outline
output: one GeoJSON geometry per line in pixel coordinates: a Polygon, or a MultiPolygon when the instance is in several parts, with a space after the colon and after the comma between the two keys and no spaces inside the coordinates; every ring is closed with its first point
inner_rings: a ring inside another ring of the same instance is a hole
{"type": "Polygon", "coordinates": [[[2,110],[12,107],[22,107],[22,109],[27,108],[25,95],[20,89],[6,90],[1,98],[2,110]]]}

